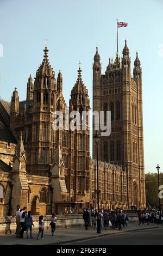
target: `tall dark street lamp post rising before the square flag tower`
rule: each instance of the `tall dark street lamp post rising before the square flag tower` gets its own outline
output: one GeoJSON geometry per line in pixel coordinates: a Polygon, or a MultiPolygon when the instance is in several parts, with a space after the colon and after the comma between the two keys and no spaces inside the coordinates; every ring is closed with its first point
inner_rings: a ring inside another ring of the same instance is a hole
{"type": "Polygon", "coordinates": [[[95,138],[96,141],[96,157],[97,157],[97,233],[101,233],[101,216],[99,214],[99,187],[98,187],[98,142],[100,139],[100,135],[96,132],[95,135],[93,135],[93,138],[95,138]]]}

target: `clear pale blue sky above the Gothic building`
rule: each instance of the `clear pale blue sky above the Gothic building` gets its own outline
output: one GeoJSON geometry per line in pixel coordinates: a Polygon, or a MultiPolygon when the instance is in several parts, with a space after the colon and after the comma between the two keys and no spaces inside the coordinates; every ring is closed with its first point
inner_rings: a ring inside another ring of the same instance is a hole
{"type": "MultiPolygon", "coordinates": [[[[162,0],[0,0],[0,95],[11,100],[15,87],[26,99],[29,74],[35,77],[48,40],[49,60],[57,76],[61,70],[66,103],[77,79],[78,62],[92,101],[92,62],[99,47],[102,71],[128,40],[131,66],[136,51],[142,65],[145,170],[163,169],[163,1],[162,0]],[[162,44],[162,45],[161,45],[162,44]],[[2,57],[3,46],[3,57],[2,57]]],[[[92,105],[92,103],[91,103],[92,105]]]]}

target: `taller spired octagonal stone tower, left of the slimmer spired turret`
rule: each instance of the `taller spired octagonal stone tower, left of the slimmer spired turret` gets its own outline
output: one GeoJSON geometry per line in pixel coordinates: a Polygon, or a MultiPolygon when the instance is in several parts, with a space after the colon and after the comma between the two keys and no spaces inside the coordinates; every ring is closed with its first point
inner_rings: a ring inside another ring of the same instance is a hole
{"type": "MultiPolygon", "coordinates": [[[[49,64],[48,49],[45,47],[43,61],[36,71],[33,93],[32,142],[26,143],[28,154],[27,172],[48,176],[52,167],[54,149],[53,112],[57,83],[49,64]]],[[[31,84],[31,80],[28,82],[31,84]]]]}

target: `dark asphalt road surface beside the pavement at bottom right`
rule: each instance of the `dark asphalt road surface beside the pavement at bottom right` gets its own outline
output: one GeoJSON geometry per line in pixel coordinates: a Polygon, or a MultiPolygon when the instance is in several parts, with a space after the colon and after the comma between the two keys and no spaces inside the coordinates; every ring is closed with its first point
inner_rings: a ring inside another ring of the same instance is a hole
{"type": "Polygon", "coordinates": [[[109,235],[72,245],[163,245],[163,228],[109,235]]]}

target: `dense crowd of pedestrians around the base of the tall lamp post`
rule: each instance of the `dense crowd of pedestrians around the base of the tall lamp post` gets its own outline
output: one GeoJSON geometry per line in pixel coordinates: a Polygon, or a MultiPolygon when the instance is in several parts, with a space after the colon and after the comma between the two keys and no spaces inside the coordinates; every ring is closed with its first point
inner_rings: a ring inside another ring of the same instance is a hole
{"type": "Polygon", "coordinates": [[[108,228],[122,230],[123,227],[127,228],[128,225],[128,215],[126,211],[106,211],[100,210],[99,213],[95,208],[83,210],[83,219],[85,222],[85,229],[97,227],[97,217],[101,219],[101,230],[108,228]]]}

